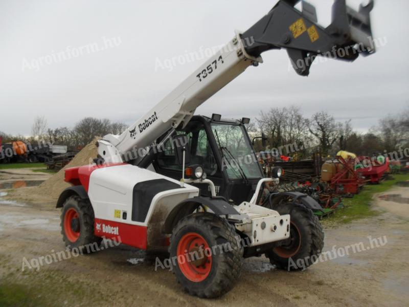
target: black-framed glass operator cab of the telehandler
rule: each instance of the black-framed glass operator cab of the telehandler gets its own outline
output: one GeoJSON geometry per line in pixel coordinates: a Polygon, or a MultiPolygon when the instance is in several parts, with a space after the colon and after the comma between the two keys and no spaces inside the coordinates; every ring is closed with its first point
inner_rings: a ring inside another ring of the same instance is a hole
{"type": "MultiPolygon", "coordinates": [[[[201,165],[207,179],[213,181],[216,194],[236,204],[249,201],[258,181],[264,178],[244,122],[248,120],[193,116],[185,128],[176,129],[177,135],[185,134],[188,138],[190,165],[201,165]]],[[[171,139],[165,142],[152,164],[157,173],[176,180],[181,178],[182,166],[171,139]]],[[[211,195],[208,184],[193,185],[201,189],[201,195],[211,195]]]]}

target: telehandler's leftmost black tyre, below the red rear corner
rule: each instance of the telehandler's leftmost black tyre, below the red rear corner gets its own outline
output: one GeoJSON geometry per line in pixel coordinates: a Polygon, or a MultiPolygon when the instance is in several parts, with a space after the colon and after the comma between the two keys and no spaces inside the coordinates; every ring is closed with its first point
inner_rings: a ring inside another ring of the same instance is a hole
{"type": "Polygon", "coordinates": [[[69,247],[70,249],[81,249],[83,253],[90,253],[98,250],[96,247],[99,247],[102,238],[94,235],[94,210],[89,200],[83,200],[77,195],[67,198],[62,205],[60,226],[62,240],[66,247],[69,247]],[[73,210],[76,211],[78,217],[73,219],[77,221],[74,221],[75,225],[70,224],[71,229],[69,229],[66,227],[67,223],[64,222],[65,218],[67,218],[73,210]],[[75,229],[73,229],[73,227],[75,229]],[[73,232],[79,233],[76,239],[72,237],[73,232]]]}

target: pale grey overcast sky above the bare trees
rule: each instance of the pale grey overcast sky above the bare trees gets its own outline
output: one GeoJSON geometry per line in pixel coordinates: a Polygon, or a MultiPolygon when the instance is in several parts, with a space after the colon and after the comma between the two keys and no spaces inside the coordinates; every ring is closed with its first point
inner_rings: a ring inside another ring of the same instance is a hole
{"type": "MultiPolygon", "coordinates": [[[[29,135],[37,115],[50,128],[86,116],[131,124],[205,61],[169,65],[172,58],[228,42],[276,2],[2,0],[0,130],[29,135]]],[[[309,2],[327,26],[332,1],[309,2]]],[[[409,105],[408,12],[407,0],[376,0],[373,32],[385,46],[353,63],[319,62],[308,78],[289,69],[285,51],[266,52],[196,114],[256,118],[294,104],[306,117],[327,111],[365,131],[409,105]]]]}

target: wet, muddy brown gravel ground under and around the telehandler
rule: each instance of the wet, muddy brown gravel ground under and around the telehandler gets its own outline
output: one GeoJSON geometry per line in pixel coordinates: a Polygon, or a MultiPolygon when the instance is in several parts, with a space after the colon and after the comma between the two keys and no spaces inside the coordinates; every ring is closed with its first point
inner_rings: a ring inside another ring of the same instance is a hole
{"type": "MultiPolygon", "coordinates": [[[[48,178],[29,169],[10,171],[13,174],[0,172],[0,184],[48,178]]],[[[376,217],[336,228],[324,222],[325,251],[342,248],[337,257],[291,273],[272,268],[265,258],[249,258],[231,292],[206,300],[185,294],[172,272],[155,271],[143,251],[122,245],[44,265],[39,271],[27,266],[22,271],[25,258],[30,261],[64,251],[60,210],[31,197],[30,189],[11,190],[17,201],[1,189],[0,302],[67,306],[402,306],[409,301],[409,204],[396,198],[379,199],[377,195],[373,207],[380,214],[376,217]],[[379,247],[373,243],[371,248],[368,236],[380,238],[379,247]],[[354,244],[366,250],[358,252],[355,248],[354,252],[354,244]],[[342,256],[347,250],[349,255],[342,256]]],[[[396,187],[384,194],[409,198],[409,188],[396,187]]]]}

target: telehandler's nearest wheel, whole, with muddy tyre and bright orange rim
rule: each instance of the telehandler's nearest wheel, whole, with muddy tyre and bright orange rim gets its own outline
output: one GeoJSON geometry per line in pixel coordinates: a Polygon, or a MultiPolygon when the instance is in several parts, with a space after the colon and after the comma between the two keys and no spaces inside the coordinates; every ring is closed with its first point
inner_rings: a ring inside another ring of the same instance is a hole
{"type": "Polygon", "coordinates": [[[173,272],[191,295],[213,298],[230,291],[240,276],[242,255],[235,228],[217,215],[194,213],[173,229],[173,272]]]}

